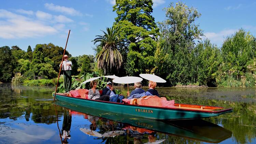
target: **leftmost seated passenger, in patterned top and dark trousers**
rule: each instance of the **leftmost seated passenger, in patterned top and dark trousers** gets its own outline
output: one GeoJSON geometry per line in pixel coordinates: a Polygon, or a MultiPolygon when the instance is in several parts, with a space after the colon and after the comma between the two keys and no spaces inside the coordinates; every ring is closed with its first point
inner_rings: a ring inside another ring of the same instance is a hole
{"type": "Polygon", "coordinates": [[[100,101],[109,101],[109,96],[108,95],[103,95],[100,96],[100,92],[97,87],[97,82],[96,81],[91,81],[90,82],[90,87],[89,93],[88,93],[88,98],[93,99],[93,100],[100,100],[100,101]]]}

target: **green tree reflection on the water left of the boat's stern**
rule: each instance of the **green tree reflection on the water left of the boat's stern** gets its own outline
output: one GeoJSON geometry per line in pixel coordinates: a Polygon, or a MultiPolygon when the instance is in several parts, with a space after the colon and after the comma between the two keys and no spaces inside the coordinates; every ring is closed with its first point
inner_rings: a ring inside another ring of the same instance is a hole
{"type": "Polygon", "coordinates": [[[53,101],[49,97],[51,88],[1,84],[0,89],[0,118],[16,120],[25,117],[27,121],[31,118],[35,123],[56,122],[53,101]]]}

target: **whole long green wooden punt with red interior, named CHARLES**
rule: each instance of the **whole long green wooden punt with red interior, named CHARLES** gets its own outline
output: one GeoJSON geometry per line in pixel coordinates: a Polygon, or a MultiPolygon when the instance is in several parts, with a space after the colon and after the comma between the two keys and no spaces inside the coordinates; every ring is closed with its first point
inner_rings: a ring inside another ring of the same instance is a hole
{"type": "MultiPolygon", "coordinates": [[[[53,94],[54,96],[54,94],[53,94]]],[[[174,107],[146,106],[69,97],[56,93],[59,101],[119,114],[156,120],[198,119],[232,112],[232,108],[175,103],[174,107]]]]}

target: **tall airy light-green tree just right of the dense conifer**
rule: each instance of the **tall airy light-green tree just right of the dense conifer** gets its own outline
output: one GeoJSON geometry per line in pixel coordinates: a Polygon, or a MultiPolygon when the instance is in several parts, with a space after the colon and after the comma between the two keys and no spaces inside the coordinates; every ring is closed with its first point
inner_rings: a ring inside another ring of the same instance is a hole
{"type": "Polygon", "coordinates": [[[193,78],[193,58],[191,51],[195,41],[203,35],[195,20],[201,16],[195,8],[188,8],[182,2],[171,3],[165,8],[166,19],[159,23],[160,38],[155,54],[155,73],[169,80],[171,85],[177,82],[188,84],[193,78]]]}

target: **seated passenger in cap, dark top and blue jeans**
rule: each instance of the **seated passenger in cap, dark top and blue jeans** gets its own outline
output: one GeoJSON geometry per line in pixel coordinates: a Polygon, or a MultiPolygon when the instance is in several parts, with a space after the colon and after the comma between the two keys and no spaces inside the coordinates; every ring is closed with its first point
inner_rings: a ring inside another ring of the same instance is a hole
{"type": "Polygon", "coordinates": [[[116,94],[111,82],[108,82],[107,86],[105,88],[103,88],[103,91],[102,91],[101,95],[108,95],[109,98],[110,98],[109,101],[111,101],[111,102],[120,102],[120,103],[122,103],[122,100],[124,98],[123,95],[116,94]]]}

